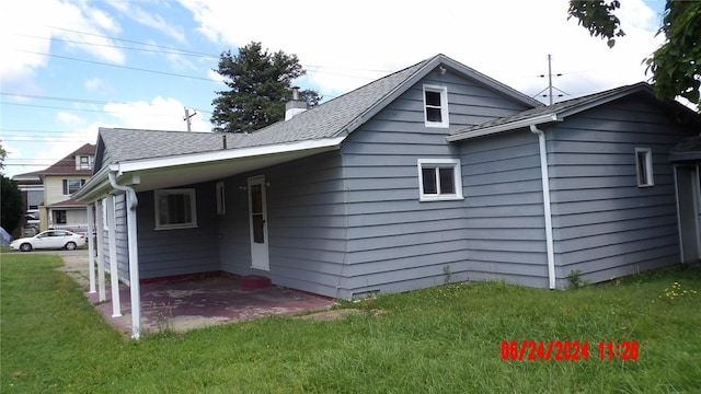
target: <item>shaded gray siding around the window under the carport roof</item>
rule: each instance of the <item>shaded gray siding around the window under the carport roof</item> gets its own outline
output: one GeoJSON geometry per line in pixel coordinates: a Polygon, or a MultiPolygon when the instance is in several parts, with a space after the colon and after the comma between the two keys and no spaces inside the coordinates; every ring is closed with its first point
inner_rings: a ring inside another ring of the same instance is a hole
{"type": "Polygon", "coordinates": [[[138,194],[139,275],[141,279],[219,270],[215,184],[195,188],[197,228],[156,230],[154,194],[138,194]]]}

